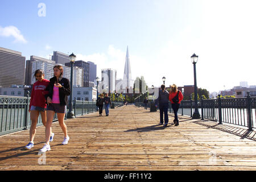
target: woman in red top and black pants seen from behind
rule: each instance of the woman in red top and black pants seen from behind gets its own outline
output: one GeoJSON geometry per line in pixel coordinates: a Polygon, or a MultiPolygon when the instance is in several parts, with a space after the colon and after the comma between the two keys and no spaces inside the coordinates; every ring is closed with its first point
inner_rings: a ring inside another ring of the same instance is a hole
{"type": "Polygon", "coordinates": [[[180,107],[180,101],[183,100],[183,94],[180,92],[180,90],[177,90],[177,86],[175,84],[173,84],[171,86],[169,100],[171,101],[172,110],[174,110],[175,126],[179,126],[179,119],[177,117],[177,111],[179,110],[179,107],[180,107]]]}

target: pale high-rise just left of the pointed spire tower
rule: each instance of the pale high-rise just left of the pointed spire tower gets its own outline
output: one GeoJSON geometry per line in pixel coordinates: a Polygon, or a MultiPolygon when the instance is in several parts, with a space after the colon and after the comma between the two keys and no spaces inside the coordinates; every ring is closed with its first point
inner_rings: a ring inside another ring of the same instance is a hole
{"type": "Polygon", "coordinates": [[[101,89],[115,92],[117,81],[117,71],[115,69],[101,69],[101,89]]]}

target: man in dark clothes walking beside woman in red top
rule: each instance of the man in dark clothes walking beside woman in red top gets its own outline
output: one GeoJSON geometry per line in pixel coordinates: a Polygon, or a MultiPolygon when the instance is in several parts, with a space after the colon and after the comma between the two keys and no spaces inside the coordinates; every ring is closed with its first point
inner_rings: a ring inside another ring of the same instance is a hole
{"type": "MultiPolygon", "coordinates": [[[[159,91],[159,96],[156,103],[159,103],[160,110],[160,123],[159,125],[163,125],[163,114],[164,114],[164,127],[168,124],[168,105],[169,105],[169,93],[166,90],[165,85],[161,85],[161,90],[159,91]]],[[[155,105],[157,107],[157,105],[155,105]]]]}

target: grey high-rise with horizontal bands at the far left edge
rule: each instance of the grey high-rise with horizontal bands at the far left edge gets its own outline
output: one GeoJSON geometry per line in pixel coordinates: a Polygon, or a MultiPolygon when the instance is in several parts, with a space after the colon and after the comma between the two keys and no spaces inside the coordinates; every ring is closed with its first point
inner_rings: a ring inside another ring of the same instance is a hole
{"type": "Polygon", "coordinates": [[[0,86],[24,85],[26,57],[0,47],[0,86]]]}

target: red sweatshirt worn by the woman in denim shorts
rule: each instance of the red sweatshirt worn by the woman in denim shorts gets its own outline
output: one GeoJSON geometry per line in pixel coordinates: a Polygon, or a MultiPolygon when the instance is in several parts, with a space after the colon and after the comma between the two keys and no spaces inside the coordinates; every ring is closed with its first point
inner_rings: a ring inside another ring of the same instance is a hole
{"type": "Polygon", "coordinates": [[[32,88],[30,108],[31,106],[38,106],[46,108],[46,98],[44,97],[48,91],[44,91],[49,84],[49,80],[43,79],[41,81],[36,81],[32,88]]]}

